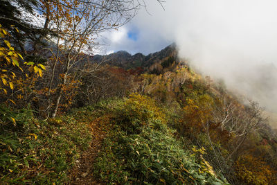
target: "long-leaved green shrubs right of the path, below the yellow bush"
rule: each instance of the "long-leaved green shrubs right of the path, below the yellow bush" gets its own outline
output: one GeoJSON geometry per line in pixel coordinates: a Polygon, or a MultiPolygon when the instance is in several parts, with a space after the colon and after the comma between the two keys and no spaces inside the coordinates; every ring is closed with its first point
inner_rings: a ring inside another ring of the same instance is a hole
{"type": "Polygon", "coordinates": [[[196,155],[182,149],[172,131],[163,126],[150,124],[140,134],[120,130],[111,134],[96,161],[98,177],[120,184],[224,184],[204,162],[197,164],[196,155]]]}

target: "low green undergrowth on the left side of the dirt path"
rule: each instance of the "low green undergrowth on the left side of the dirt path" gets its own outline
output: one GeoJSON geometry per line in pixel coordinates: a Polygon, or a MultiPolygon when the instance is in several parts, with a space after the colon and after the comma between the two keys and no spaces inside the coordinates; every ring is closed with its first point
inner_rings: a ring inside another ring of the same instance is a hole
{"type": "Polygon", "coordinates": [[[67,171],[91,141],[87,124],[73,115],[42,121],[30,109],[4,106],[0,114],[0,184],[66,182],[67,171]]]}

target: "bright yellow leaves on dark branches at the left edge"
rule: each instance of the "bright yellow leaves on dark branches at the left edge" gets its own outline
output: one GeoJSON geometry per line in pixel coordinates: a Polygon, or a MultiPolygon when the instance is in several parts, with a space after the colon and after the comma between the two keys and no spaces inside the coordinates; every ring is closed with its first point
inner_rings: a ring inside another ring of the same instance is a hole
{"type": "MultiPolygon", "coordinates": [[[[11,27],[19,32],[15,26],[11,27]]],[[[9,30],[0,24],[0,93],[5,94],[4,98],[1,98],[1,102],[9,100],[15,104],[15,100],[12,100],[14,91],[24,91],[23,87],[28,87],[30,74],[42,77],[45,67],[43,64],[24,62],[22,55],[16,51],[15,44],[10,44],[11,37],[9,30]]]]}

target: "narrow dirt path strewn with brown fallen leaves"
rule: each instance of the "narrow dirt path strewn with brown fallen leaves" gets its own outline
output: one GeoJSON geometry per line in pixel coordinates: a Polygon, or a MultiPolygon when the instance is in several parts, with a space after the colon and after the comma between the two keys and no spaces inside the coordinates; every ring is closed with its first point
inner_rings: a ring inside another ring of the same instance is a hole
{"type": "Polygon", "coordinates": [[[76,160],[75,166],[69,173],[69,184],[102,184],[93,176],[93,162],[98,152],[100,152],[101,144],[106,134],[104,127],[108,122],[109,117],[102,116],[90,123],[93,137],[91,146],[82,154],[80,159],[76,160]]]}

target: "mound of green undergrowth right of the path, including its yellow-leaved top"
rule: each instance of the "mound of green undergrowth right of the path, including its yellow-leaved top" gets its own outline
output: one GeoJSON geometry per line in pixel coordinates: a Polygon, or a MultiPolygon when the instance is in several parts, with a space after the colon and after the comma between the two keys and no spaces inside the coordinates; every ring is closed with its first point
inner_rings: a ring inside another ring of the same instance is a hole
{"type": "Polygon", "coordinates": [[[202,157],[204,148],[183,147],[167,126],[164,109],[150,98],[132,95],[114,109],[114,129],[95,164],[103,182],[228,184],[202,157]]]}

